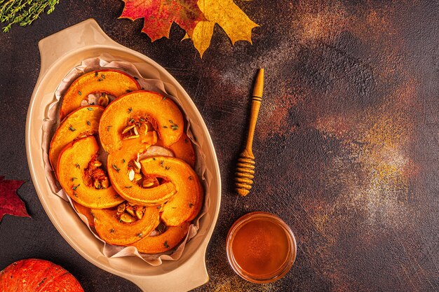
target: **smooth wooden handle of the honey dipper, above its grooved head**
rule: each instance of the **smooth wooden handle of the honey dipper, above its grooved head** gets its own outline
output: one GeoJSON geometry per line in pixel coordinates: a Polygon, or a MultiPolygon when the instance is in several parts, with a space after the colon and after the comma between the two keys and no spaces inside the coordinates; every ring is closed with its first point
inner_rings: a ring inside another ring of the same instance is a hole
{"type": "Polygon", "coordinates": [[[259,108],[262,102],[262,91],[264,89],[264,69],[259,69],[256,76],[255,86],[253,87],[252,97],[252,109],[250,111],[250,124],[248,125],[247,144],[245,151],[249,155],[253,155],[252,145],[253,138],[255,137],[255,127],[257,121],[257,115],[259,114],[259,108]]]}

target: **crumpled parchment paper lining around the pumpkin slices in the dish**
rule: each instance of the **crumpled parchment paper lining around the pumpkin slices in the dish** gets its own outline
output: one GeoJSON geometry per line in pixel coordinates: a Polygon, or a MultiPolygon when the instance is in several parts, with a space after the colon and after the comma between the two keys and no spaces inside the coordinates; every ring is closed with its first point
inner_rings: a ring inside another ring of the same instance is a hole
{"type": "MultiPolygon", "coordinates": [[[[205,190],[205,200],[200,215],[190,226],[189,232],[187,233],[187,236],[182,242],[182,244],[177,246],[176,249],[173,249],[171,251],[168,251],[167,253],[162,253],[162,254],[144,254],[144,253],[139,253],[134,246],[114,246],[112,244],[107,244],[102,239],[100,239],[100,237],[97,235],[97,233],[93,228],[90,228],[86,216],[83,216],[82,214],[79,214],[77,212],[76,214],[78,214],[81,220],[84,223],[86,223],[86,225],[90,229],[90,232],[92,232],[93,235],[103,243],[102,253],[104,254],[104,256],[107,256],[109,258],[122,257],[122,256],[137,256],[142,258],[145,262],[149,263],[150,265],[161,265],[161,263],[163,263],[163,260],[179,259],[180,256],[182,256],[182,253],[184,251],[184,246],[186,245],[187,241],[189,241],[192,237],[194,237],[198,232],[199,220],[204,214],[207,213],[208,207],[210,205],[210,199],[209,199],[210,196],[208,194],[208,190],[209,190],[210,182],[212,180],[212,176],[208,171],[207,167],[205,167],[205,155],[201,151],[201,145],[203,145],[204,143],[203,137],[196,137],[196,139],[194,139],[194,135],[191,132],[191,128],[193,127],[197,128],[198,125],[191,123],[191,119],[184,114],[184,109],[182,108],[182,103],[180,102],[180,99],[177,98],[178,95],[175,87],[173,85],[170,85],[169,83],[163,83],[163,81],[160,80],[159,72],[154,67],[146,63],[130,63],[124,60],[118,60],[116,57],[106,54],[106,55],[101,55],[100,57],[83,60],[83,62],[81,62],[81,65],[74,67],[72,71],[70,71],[67,74],[67,76],[65,76],[65,78],[62,79],[60,85],[55,91],[55,101],[49,104],[47,111],[48,115],[43,120],[43,144],[41,145],[41,147],[43,150],[43,160],[44,160],[44,169],[46,172],[46,177],[48,179],[50,188],[52,189],[54,195],[58,195],[62,197],[63,200],[69,201],[70,204],[72,204],[72,200],[65,193],[65,191],[62,190],[60,183],[58,183],[55,174],[53,172],[53,169],[50,165],[50,161],[48,158],[50,140],[52,139],[53,133],[55,132],[56,128],[60,124],[58,113],[62,102],[62,96],[66,92],[67,88],[69,88],[69,86],[73,83],[74,80],[76,80],[76,78],[78,78],[84,73],[97,69],[109,69],[109,68],[125,71],[131,76],[134,76],[139,82],[140,86],[142,86],[142,88],[144,88],[145,90],[160,92],[161,94],[166,95],[167,98],[173,99],[173,101],[180,106],[184,118],[187,120],[186,123],[187,126],[185,128],[187,136],[189,137],[189,139],[191,139],[192,143],[194,144],[194,148],[196,152],[195,171],[198,174],[198,176],[201,178],[201,183],[203,184],[203,188],[205,190]],[[140,71],[147,72],[147,76],[142,76],[140,74],[140,71]]],[[[89,96],[88,101],[90,103],[93,102],[94,100],[95,99],[93,96],[89,96]]],[[[74,209],[73,204],[72,204],[72,208],[74,209]]]]}

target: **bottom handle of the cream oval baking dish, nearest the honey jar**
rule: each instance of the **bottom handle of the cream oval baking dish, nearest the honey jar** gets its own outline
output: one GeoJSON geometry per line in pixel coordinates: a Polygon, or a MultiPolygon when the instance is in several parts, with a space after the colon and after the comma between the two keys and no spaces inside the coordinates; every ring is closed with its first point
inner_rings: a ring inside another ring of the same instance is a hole
{"type": "Polygon", "coordinates": [[[209,281],[205,267],[205,246],[172,272],[154,277],[129,277],[143,292],[184,292],[209,281]]]}

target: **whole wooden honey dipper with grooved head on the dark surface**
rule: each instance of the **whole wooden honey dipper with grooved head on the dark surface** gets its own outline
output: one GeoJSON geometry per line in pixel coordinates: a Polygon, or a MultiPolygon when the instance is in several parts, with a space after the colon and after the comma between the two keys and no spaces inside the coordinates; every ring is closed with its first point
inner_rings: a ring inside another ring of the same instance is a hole
{"type": "Polygon", "coordinates": [[[241,152],[236,164],[235,188],[236,193],[245,196],[250,193],[252,179],[255,177],[255,156],[253,155],[252,145],[255,137],[255,126],[257,115],[262,102],[262,91],[264,90],[264,69],[259,69],[256,76],[255,86],[253,87],[252,109],[250,111],[250,124],[248,125],[247,144],[241,152]]]}

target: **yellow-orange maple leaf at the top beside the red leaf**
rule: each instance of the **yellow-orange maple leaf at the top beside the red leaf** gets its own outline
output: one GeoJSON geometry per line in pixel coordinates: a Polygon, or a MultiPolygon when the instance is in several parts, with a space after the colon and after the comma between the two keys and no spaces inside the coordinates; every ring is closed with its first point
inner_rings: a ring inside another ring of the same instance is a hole
{"type": "MultiPolygon", "coordinates": [[[[236,41],[252,43],[252,29],[259,25],[252,22],[233,0],[198,0],[198,7],[207,21],[198,22],[191,39],[201,57],[210,46],[215,23],[224,29],[232,44],[236,41]]],[[[187,38],[189,36],[184,37],[187,38]]]]}

